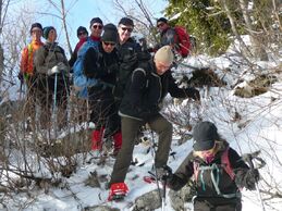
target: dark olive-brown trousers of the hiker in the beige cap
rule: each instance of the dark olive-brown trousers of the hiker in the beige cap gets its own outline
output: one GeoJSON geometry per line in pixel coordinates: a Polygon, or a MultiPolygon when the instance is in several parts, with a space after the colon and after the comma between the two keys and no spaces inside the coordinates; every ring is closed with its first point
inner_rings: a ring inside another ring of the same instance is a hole
{"type": "MultiPolygon", "coordinates": [[[[110,185],[124,182],[132,161],[135,137],[139,132],[139,127],[144,124],[144,121],[122,116],[122,148],[119,151],[113,166],[110,185]]],[[[150,128],[159,135],[155,164],[156,167],[161,167],[167,164],[169,159],[172,140],[172,124],[160,114],[149,121],[148,124],[150,128]]]]}

